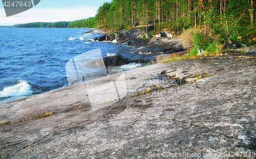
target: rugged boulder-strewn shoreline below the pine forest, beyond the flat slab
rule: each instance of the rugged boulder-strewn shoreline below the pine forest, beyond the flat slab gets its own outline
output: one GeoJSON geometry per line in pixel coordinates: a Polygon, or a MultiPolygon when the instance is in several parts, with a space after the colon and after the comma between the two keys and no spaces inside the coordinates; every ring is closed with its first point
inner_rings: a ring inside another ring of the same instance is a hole
{"type": "MultiPolygon", "coordinates": [[[[153,26],[148,26],[147,31],[153,30],[153,26]]],[[[183,32],[186,32],[183,30],[183,32]]],[[[136,63],[155,63],[161,61],[167,61],[173,57],[187,56],[190,49],[193,48],[193,43],[189,40],[182,40],[184,38],[176,37],[176,33],[163,31],[156,35],[146,33],[146,28],[138,26],[130,30],[121,30],[117,32],[105,33],[105,30],[94,29],[86,33],[93,34],[93,39],[90,36],[90,40],[98,41],[115,41],[118,44],[136,46],[133,54],[150,54],[152,56],[142,59],[128,59],[120,55],[113,56],[111,58],[104,58],[104,62],[109,66],[121,66],[132,62],[136,63]],[[162,55],[159,55],[161,53],[162,55]],[[163,55],[164,54],[164,55],[163,55]],[[117,61],[120,59],[120,61],[117,61]]],[[[242,52],[244,54],[255,55],[256,45],[245,47],[244,44],[240,44],[232,39],[221,47],[223,53],[225,52],[242,52]],[[243,46],[242,46],[243,45],[243,46]],[[227,47],[231,48],[229,51],[224,51],[227,47]]]]}

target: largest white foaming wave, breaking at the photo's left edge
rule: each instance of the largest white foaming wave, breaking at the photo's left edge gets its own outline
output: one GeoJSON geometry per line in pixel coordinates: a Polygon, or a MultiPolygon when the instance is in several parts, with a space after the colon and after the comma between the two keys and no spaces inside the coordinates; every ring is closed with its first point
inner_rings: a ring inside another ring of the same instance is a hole
{"type": "Polygon", "coordinates": [[[0,98],[8,96],[26,96],[32,94],[31,87],[26,81],[18,81],[17,85],[5,87],[0,92],[0,98]]]}

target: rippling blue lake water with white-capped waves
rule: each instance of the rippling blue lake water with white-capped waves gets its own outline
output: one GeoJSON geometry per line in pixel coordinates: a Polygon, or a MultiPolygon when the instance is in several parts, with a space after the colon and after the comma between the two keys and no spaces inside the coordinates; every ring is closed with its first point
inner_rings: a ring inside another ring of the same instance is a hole
{"type": "MultiPolygon", "coordinates": [[[[0,102],[67,87],[66,63],[83,52],[100,48],[103,57],[135,56],[130,53],[132,46],[79,38],[86,31],[0,28],[0,102]]],[[[89,59],[94,55],[90,56],[89,59]]],[[[134,67],[130,64],[123,69],[134,67]]]]}

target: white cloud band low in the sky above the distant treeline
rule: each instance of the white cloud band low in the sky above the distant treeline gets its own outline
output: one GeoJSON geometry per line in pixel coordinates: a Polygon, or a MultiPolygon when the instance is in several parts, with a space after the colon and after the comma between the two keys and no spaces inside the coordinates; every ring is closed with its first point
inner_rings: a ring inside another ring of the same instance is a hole
{"type": "Polygon", "coordinates": [[[31,8],[25,12],[6,17],[5,10],[0,9],[0,25],[14,25],[28,22],[74,21],[95,16],[97,7],[74,9],[37,9],[31,8]]]}

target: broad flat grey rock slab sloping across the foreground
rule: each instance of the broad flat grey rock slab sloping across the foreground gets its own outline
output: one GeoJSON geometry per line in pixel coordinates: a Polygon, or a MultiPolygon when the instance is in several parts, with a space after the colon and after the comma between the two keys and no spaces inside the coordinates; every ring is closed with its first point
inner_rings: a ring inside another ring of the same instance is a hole
{"type": "Polygon", "coordinates": [[[116,80],[125,97],[100,109],[84,83],[1,102],[0,158],[255,158],[255,62],[227,55],[125,71],[116,80]],[[36,118],[45,111],[54,113],[36,118]]]}

